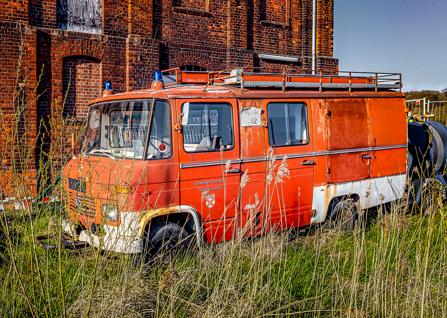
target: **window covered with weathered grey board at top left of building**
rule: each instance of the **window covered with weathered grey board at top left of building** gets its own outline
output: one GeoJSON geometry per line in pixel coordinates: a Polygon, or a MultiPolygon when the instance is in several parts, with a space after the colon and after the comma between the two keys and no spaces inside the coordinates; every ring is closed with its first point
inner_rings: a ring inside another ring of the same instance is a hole
{"type": "Polygon", "coordinates": [[[57,0],[57,28],[67,31],[102,33],[101,0],[57,0]]]}

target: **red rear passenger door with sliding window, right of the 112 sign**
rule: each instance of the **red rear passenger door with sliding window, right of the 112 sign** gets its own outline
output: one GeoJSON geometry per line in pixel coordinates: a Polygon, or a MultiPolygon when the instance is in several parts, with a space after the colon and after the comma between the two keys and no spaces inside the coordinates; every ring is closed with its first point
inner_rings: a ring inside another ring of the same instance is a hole
{"type": "Polygon", "coordinates": [[[266,147],[271,147],[276,157],[276,162],[267,162],[267,211],[263,217],[264,231],[272,227],[280,229],[308,225],[311,218],[315,165],[310,134],[310,100],[263,100],[263,105],[267,115],[266,147]],[[280,178],[281,172],[278,175],[285,156],[287,166],[283,168],[290,171],[290,179],[286,176],[280,178]]]}

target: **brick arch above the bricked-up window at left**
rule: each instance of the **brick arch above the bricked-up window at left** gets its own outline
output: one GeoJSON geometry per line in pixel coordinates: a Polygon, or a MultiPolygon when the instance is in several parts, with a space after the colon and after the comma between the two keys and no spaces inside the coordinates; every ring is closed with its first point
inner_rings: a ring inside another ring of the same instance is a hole
{"type": "Polygon", "coordinates": [[[60,42],[62,57],[84,55],[102,61],[106,46],[104,43],[83,39],[68,39],[60,42]]]}

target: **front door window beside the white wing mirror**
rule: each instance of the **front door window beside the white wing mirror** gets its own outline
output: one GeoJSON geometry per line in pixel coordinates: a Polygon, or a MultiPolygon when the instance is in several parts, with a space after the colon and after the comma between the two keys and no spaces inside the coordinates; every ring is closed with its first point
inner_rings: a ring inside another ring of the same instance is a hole
{"type": "MultiPolygon", "coordinates": [[[[181,111],[184,112],[184,105],[181,111]]],[[[232,109],[228,104],[189,103],[183,125],[183,148],[187,153],[233,148],[232,109]]]]}

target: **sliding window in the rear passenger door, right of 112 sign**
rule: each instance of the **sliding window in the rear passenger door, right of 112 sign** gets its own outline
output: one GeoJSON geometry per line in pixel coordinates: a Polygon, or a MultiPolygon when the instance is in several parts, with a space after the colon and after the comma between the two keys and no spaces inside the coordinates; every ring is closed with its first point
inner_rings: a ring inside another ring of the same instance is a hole
{"type": "Polygon", "coordinates": [[[307,144],[307,106],[301,102],[267,104],[269,142],[272,146],[307,144]]]}

